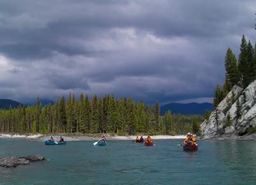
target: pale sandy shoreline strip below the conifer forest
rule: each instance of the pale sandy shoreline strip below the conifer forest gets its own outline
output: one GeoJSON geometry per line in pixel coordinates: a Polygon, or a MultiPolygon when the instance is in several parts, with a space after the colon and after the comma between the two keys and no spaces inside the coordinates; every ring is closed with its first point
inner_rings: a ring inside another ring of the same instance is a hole
{"type": "MultiPolygon", "coordinates": [[[[72,136],[72,135],[41,135],[41,134],[36,134],[36,135],[18,135],[18,134],[0,134],[0,139],[1,138],[20,138],[24,140],[34,140],[34,141],[45,141],[49,139],[50,137],[53,137],[54,140],[59,140],[60,136],[64,138],[65,141],[86,141],[86,140],[98,140],[99,137],[90,137],[90,136],[72,136]]],[[[136,136],[110,136],[110,135],[105,135],[108,140],[135,140],[136,136]]],[[[146,138],[147,136],[143,136],[143,138],[146,138]]],[[[186,138],[186,135],[176,135],[176,136],[171,136],[171,135],[155,135],[152,136],[154,140],[163,140],[163,139],[184,139],[186,138]]]]}

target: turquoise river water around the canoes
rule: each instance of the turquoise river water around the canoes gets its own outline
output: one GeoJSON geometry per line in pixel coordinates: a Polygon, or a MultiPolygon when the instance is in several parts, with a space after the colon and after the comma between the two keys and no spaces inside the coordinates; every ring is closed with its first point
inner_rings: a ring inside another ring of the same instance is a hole
{"type": "Polygon", "coordinates": [[[0,158],[41,154],[47,160],[0,168],[0,184],[256,184],[256,142],[200,140],[196,152],[182,140],[45,145],[0,139],[0,158]]]}

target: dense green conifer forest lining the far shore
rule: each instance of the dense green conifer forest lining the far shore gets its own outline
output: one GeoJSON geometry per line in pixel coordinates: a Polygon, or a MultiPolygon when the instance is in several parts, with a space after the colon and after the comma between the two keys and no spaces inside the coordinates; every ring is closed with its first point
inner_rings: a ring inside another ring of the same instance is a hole
{"type": "Polygon", "coordinates": [[[170,110],[160,115],[160,105],[145,105],[132,98],[116,99],[107,94],[96,94],[90,100],[81,93],[78,100],[70,93],[55,103],[42,107],[37,96],[36,104],[0,110],[2,133],[116,133],[130,135],[177,135],[198,130],[201,115],[174,115],[170,110]]]}

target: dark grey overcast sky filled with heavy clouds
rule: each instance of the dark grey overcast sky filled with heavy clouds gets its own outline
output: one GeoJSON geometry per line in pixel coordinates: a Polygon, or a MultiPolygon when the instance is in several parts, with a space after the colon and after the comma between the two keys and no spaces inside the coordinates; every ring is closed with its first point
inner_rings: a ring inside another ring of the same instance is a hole
{"type": "Polygon", "coordinates": [[[0,98],[211,101],[256,1],[0,1],[0,98]]]}

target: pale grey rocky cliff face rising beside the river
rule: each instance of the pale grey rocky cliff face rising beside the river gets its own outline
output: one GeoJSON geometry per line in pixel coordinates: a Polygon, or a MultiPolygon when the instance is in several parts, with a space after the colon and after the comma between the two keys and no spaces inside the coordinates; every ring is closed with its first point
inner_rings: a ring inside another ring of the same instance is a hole
{"type": "Polygon", "coordinates": [[[209,119],[201,124],[202,138],[239,136],[246,134],[250,126],[256,127],[256,80],[246,89],[235,85],[221,101],[209,119]],[[241,104],[241,116],[237,118],[237,101],[241,104]],[[230,115],[231,125],[227,126],[230,115]]]}

